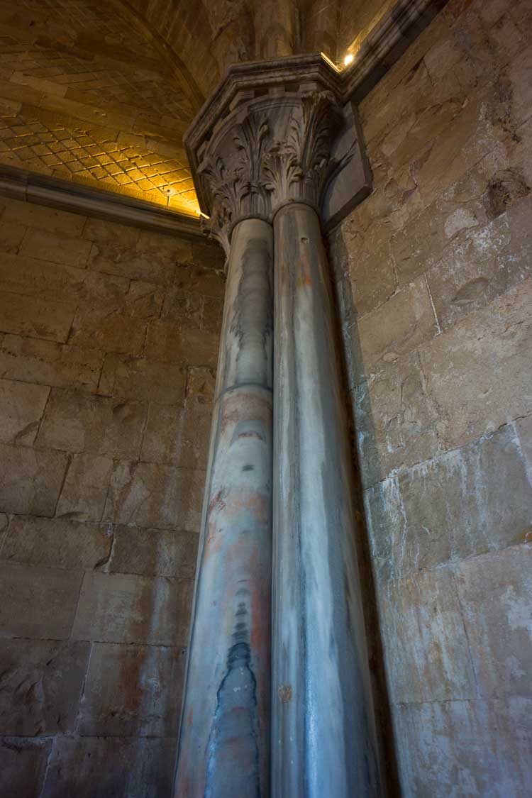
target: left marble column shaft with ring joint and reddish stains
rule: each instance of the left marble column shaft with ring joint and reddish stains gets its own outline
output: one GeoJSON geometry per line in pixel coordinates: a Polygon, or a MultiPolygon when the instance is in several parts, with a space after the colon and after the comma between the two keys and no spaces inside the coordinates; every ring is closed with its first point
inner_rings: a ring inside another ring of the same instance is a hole
{"type": "Polygon", "coordinates": [[[175,796],[269,794],[272,230],[234,228],[175,796]]]}

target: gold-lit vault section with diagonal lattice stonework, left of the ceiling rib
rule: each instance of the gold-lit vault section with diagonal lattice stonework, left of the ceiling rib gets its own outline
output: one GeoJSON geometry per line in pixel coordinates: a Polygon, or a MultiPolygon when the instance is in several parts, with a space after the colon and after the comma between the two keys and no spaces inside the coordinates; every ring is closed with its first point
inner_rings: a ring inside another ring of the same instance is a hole
{"type": "Polygon", "coordinates": [[[120,5],[0,2],[0,164],[197,214],[182,136],[198,101],[120,5]]]}

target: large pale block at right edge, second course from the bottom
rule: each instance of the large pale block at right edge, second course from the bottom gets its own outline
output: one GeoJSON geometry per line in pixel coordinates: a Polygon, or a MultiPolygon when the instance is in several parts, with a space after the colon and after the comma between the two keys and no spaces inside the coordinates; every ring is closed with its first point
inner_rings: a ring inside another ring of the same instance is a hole
{"type": "MultiPolygon", "coordinates": [[[[532,539],[532,511],[528,533],[532,539]]],[[[483,698],[532,698],[531,568],[532,547],[526,543],[463,560],[455,567],[471,659],[483,698]]]]}

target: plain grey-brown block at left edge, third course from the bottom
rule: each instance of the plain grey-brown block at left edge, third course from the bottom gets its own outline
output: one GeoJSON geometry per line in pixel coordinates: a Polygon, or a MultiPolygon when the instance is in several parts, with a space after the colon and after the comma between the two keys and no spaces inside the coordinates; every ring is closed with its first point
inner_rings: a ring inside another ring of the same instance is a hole
{"type": "Polygon", "coordinates": [[[0,635],[68,638],[81,571],[0,565],[0,635]]]}

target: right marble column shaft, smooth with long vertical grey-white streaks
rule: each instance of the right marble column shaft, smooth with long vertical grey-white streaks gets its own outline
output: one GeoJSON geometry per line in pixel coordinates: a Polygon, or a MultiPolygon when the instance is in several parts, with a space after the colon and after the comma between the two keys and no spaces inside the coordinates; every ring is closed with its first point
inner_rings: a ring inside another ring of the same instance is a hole
{"type": "Polygon", "coordinates": [[[315,211],[274,219],[272,794],[380,796],[352,460],[315,211]]]}

